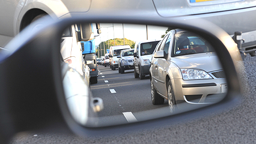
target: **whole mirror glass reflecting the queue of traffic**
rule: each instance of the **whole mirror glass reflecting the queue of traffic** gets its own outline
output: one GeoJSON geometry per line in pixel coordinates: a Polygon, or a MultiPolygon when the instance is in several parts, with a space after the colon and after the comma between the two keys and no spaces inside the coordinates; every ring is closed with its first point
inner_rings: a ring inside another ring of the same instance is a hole
{"type": "Polygon", "coordinates": [[[79,124],[98,127],[156,119],[225,97],[225,73],[214,47],[199,34],[153,25],[89,25],[71,25],[61,40],[68,65],[63,68],[63,88],[79,124]],[[81,39],[85,27],[94,39],[81,39]]]}

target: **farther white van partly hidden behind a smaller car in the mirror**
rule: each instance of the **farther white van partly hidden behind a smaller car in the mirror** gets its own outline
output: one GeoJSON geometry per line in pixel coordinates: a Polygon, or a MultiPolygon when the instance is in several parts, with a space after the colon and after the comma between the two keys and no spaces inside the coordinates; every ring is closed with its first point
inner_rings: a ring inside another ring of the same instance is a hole
{"type": "Polygon", "coordinates": [[[129,45],[117,45],[110,46],[109,49],[109,63],[111,70],[118,68],[118,56],[120,55],[121,50],[131,49],[129,45]]]}

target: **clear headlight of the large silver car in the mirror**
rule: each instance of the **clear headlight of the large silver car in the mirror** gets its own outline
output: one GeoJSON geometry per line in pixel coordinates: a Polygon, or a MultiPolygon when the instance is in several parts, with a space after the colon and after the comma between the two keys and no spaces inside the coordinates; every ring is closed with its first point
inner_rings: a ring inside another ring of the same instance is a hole
{"type": "Polygon", "coordinates": [[[196,69],[181,69],[184,80],[191,79],[212,79],[212,77],[203,70],[196,69]]]}

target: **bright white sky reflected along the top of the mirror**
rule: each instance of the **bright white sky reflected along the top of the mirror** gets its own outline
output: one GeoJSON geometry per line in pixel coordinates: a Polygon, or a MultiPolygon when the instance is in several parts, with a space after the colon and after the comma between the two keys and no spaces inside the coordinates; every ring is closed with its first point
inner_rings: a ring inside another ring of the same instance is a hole
{"type": "MultiPolygon", "coordinates": [[[[93,25],[94,35],[97,35],[97,29],[95,24],[93,25]]],[[[95,37],[95,45],[99,45],[100,41],[107,41],[108,39],[126,38],[132,41],[147,40],[146,25],[124,24],[124,30],[122,24],[106,24],[100,23],[100,30],[102,33],[95,37]],[[114,33],[113,33],[114,25],[114,33]],[[124,31],[124,33],[123,33],[124,31]]],[[[148,25],[148,40],[159,40],[161,36],[166,34],[167,27],[148,25]]]]}

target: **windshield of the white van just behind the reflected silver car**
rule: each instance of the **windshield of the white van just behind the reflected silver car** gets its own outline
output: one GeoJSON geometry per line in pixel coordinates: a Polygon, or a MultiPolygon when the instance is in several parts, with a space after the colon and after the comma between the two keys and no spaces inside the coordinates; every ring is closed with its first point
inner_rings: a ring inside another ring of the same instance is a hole
{"type": "Polygon", "coordinates": [[[141,44],[141,55],[152,55],[159,41],[145,42],[141,44]]]}

